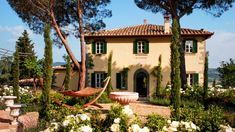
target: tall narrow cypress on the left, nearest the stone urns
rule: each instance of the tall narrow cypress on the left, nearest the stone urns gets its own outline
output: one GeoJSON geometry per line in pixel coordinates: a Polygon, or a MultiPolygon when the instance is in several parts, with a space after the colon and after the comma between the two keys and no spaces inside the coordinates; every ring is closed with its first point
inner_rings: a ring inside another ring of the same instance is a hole
{"type": "Polygon", "coordinates": [[[44,63],[43,63],[43,89],[41,96],[41,111],[40,117],[49,121],[50,115],[50,89],[52,84],[52,41],[50,39],[50,26],[47,24],[44,29],[44,63]]]}

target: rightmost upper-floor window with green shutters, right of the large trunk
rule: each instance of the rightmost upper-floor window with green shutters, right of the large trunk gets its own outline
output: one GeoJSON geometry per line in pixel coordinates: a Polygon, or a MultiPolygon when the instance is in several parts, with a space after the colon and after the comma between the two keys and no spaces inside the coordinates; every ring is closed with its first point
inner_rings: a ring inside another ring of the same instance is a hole
{"type": "Polygon", "coordinates": [[[183,48],[185,53],[197,53],[197,40],[184,40],[183,41],[183,48]]]}

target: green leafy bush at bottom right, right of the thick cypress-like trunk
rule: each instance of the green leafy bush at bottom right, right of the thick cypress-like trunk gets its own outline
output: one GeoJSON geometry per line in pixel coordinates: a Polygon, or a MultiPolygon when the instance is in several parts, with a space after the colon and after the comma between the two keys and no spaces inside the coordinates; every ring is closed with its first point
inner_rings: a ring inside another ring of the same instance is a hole
{"type": "Polygon", "coordinates": [[[218,106],[209,106],[208,110],[198,105],[197,107],[181,108],[181,120],[192,121],[201,131],[219,131],[220,125],[224,124],[223,110],[218,106]]]}

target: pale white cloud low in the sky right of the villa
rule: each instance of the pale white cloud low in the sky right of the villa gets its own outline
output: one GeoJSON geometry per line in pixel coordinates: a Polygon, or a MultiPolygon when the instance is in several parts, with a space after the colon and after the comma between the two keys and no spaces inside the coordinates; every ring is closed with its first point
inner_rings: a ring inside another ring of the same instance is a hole
{"type": "Polygon", "coordinates": [[[221,61],[235,59],[235,32],[217,31],[207,41],[209,66],[218,67],[221,61]]]}

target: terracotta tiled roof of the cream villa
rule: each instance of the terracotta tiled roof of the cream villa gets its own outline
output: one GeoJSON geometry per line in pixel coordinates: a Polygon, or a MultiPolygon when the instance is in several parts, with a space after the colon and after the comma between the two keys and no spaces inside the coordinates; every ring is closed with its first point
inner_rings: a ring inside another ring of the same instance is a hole
{"type": "MultiPolygon", "coordinates": [[[[213,35],[212,32],[205,30],[195,30],[188,28],[181,28],[182,35],[202,35],[210,37],[213,35]]],[[[161,36],[161,35],[171,35],[169,33],[164,33],[164,26],[153,25],[153,24],[141,24],[136,26],[128,26],[124,28],[116,28],[111,30],[102,30],[93,33],[87,33],[86,37],[99,37],[99,36],[161,36]]]]}

